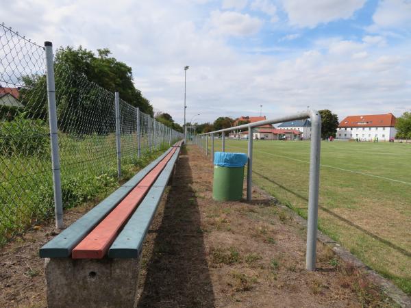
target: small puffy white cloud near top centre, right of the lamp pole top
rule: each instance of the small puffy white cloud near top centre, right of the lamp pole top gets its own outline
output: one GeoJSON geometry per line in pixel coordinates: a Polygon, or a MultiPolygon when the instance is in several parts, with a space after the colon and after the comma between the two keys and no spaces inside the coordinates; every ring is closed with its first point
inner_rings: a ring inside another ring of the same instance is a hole
{"type": "Polygon", "coordinates": [[[212,29],[219,34],[248,36],[256,34],[260,30],[262,21],[259,18],[249,16],[249,14],[216,10],[211,12],[210,24],[212,29]]]}

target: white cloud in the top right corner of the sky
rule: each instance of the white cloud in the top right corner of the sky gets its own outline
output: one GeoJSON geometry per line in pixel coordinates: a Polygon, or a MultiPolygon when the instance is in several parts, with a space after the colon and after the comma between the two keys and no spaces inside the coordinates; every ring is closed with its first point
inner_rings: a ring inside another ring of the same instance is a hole
{"type": "Polygon", "coordinates": [[[383,0],[375,10],[373,21],[377,27],[406,27],[411,29],[411,2],[409,0],[383,0]]]}

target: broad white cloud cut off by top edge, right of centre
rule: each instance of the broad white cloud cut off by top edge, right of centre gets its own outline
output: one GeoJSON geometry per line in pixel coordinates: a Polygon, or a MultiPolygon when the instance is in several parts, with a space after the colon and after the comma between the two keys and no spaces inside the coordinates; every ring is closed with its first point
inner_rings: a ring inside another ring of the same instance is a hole
{"type": "Polygon", "coordinates": [[[291,25],[316,27],[338,19],[350,18],[366,0],[282,0],[291,25]]]}

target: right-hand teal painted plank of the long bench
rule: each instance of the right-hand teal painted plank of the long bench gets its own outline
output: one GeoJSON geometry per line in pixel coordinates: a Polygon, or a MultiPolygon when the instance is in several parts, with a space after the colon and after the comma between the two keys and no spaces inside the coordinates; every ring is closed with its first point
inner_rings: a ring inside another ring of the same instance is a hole
{"type": "Polygon", "coordinates": [[[149,231],[151,221],[155,211],[160,204],[160,200],[167,183],[173,173],[174,164],[178,158],[180,149],[177,149],[171,157],[158,179],[150,188],[147,196],[138,205],[136,211],[129,219],[121,233],[114,240],[108,250],[110,258],[137,258],[141,253],[142,243],[149,231]]]}

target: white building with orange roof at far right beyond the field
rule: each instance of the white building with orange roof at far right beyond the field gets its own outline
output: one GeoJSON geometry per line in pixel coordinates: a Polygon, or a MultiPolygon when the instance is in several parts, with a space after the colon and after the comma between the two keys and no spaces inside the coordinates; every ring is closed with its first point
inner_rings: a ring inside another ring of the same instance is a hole
{"type": "Polygon", "coordinates": [[[347,116],[338,125],[337,139],[390,140],[395,138],[395,116],[388,114],[370,114],[364,116],[347,116]]]}

